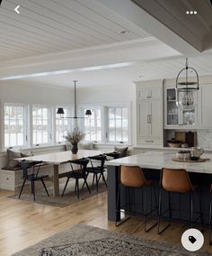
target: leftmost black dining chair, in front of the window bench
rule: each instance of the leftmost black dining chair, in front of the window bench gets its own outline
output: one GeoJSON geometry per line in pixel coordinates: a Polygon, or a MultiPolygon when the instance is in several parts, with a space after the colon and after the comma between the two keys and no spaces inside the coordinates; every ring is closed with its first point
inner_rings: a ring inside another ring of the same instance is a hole
{"type": "Polygon", "coordinates": [[[44,178],[47,178],[49,176],[39,175],[41,163],[42,161],[26,161],[26,160],[19,161],[19,165],[22,168],[22,179],[23,179],[22,188],[19,193],[19,198],[22,196],[22,189],[25,186],[26,181],[31,181],[31,194],[33,195],[34,201],[35,201],[35,181],[42,182],[42,185],[45,188],[47,195],[49,197],[49,192],[43,180],[44,178]],[[29,173],[29,170],[31,170],[31,173],[29,173]]]}

